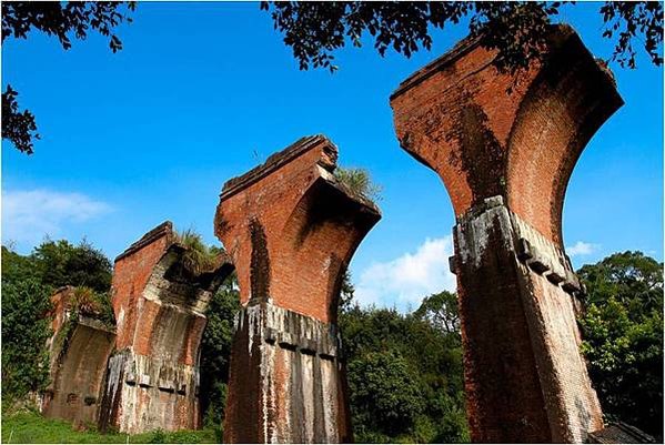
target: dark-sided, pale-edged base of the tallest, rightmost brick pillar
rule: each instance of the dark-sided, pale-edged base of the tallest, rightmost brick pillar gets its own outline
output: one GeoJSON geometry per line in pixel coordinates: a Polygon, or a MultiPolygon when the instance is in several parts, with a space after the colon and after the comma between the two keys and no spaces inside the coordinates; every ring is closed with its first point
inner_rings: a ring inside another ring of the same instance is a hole
{"type": "Polygon", "coordinates": [[[564,253],[501,196],[459,220],[455,252],[474,441],[584,442],[602,428],[564,253]]]}

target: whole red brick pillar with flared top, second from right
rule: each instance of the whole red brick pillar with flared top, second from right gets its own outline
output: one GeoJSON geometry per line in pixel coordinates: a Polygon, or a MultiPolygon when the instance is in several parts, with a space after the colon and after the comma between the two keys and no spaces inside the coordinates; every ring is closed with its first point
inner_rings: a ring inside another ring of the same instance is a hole
{"type": "Polygon", "coordinates": [[[224,442],[352,439],[336,328],[342,274],[379,209],[333,175],[337,149],[303,138],[224,184],[215,234],[241,311],[224,442]]]}

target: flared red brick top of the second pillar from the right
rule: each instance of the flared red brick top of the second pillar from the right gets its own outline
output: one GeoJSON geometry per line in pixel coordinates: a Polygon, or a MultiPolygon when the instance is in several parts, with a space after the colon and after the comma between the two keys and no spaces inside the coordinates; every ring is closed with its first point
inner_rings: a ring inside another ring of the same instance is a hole
{"type": "Polygon", "coordinates": [[[302,138],[224,184],[214,230],[236,266],[242,304],[272,301],[334,322],[342,273],[381,218],[337,182],[336,159],[326,138],[302,138]]]}

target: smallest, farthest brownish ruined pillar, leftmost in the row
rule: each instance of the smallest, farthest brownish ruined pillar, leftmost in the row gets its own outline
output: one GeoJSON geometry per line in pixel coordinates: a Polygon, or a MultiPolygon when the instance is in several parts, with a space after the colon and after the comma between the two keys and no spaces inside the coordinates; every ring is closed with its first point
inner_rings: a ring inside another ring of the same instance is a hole
{"type": "Polygon", "coordinates": [[[51,383],[42,396],[46,417],[71,421],[75,427],[97,422],[101,388],[115,333],[101,322],[70,314],[74,289],[58,290],[49,342],[51,383]]]}

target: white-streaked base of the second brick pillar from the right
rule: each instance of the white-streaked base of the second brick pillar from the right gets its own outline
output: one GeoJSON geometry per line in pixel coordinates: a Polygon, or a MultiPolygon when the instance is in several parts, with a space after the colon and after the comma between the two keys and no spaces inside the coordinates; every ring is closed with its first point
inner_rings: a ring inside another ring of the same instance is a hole
{"type": "Polygon", "coordinates": [[[250,304],[236,318],[224,442],[350,442],[334,325],[250,304]]]}

